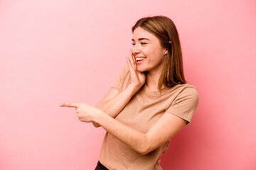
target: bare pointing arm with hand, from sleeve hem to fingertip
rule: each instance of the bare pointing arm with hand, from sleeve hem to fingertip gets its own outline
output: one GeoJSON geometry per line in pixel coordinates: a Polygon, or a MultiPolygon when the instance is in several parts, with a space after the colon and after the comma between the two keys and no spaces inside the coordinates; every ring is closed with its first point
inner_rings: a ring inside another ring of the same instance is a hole
{"type": "Polygon", "coordinates": [[[142,155],[148,154],[157,147],[164,145],[187,123],[186,120],[176,115],[164,113],[148,132],[143,133],[120,123],[95,106],[85,103],[62,103],[60,106],[76,108],[80,121],[98,123],[107,132],[110,132],[118,140],[142,155]]]}

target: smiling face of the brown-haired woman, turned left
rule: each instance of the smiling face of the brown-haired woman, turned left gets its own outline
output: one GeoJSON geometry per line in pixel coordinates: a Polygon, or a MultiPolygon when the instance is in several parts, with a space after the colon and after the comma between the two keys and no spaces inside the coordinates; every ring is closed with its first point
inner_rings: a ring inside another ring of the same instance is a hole
{"type": "Polygon", "coordinates": [[[139,72],[162,72],[167,50],[161,47],[155,35],[138,27],[134,30],[132,45],[134,45],[132,53],[136,57],[139,72]]]}

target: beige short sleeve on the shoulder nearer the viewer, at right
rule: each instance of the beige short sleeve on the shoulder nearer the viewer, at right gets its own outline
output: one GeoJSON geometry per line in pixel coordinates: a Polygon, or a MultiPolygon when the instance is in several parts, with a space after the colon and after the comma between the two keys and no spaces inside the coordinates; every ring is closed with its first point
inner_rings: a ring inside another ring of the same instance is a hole
{"type": "Polygon", "coordinates": [[[196,87],[188,86],[183,89],[171,103],[171,106],[166,110],[166,113],[174,114],[188,123],[191,123],[193,113],[198,106],[199,96],[196,87]]]}

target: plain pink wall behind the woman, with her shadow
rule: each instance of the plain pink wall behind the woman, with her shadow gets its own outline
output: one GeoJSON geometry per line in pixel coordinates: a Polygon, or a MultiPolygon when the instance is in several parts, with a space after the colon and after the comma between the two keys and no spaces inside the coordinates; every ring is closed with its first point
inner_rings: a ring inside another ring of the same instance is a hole
{"type": "Polygon", "coordinates": [[[0,1],[0,169],[94,169],[105,130],[73,108],[110,89],[144,16],[169,16],[181,38],[191,125],[164,169],[256,169],[256,1],[0,1]]]}

